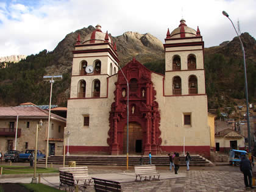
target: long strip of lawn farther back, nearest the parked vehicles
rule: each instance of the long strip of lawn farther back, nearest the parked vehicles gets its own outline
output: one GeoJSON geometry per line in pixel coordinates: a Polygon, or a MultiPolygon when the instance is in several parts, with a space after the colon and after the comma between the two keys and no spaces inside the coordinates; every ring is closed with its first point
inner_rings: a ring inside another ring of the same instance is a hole
{"type": "MultiPolygon", "coordinates": [[[[2,166],[2,174],[30,174],[34,173],[34,167],[30,166],[2,166]]],[[[37,168],[37,173],[59,172],[54,168],[37,168]]]]}

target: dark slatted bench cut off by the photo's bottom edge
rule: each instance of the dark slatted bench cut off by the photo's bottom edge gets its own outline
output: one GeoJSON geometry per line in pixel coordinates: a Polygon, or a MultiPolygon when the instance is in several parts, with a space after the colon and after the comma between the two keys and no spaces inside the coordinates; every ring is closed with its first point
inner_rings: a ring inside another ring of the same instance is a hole
{"type": "Polygon", "coordinates": [[[121,190],[121,184],[119,182],[113,181],[113,180],[105,180],[105,179],[98,179],[95,177],[92,177],[94,182],[94,190],[96,192],[98,191],[113,191],[118,192],[121,190]]]}

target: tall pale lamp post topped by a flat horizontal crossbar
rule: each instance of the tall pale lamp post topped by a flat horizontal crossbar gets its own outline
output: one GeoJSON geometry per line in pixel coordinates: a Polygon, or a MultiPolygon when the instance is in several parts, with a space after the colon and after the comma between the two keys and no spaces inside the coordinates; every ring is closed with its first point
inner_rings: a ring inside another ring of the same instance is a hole
{"type": "Polygon", "coordinates": [[[46,158],[45,158],[45,168],[47,168],[48,163],[48,148],[49,148],[49,129],[51,122],[51,104],[52,104],[52,84],[54,80],[62,80],[62,76],[43,76],[44,81],[49,81],[51,84],[51,92],[50,92],[50,104],[49,104],[49,116],[48,116],[48,131],[47,131],[47,144],[46,144],[46,158]]]}

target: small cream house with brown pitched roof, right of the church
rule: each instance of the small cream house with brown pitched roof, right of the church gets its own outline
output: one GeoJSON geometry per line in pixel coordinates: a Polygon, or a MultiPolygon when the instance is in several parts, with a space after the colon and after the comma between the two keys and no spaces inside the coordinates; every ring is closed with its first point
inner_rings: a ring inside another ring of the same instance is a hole
{"type": "Polygon", "coordinates": [[[244,137],[233,129],[215,133],[216,151],[228,152],[230,149],[244,149],[244,137]]]}

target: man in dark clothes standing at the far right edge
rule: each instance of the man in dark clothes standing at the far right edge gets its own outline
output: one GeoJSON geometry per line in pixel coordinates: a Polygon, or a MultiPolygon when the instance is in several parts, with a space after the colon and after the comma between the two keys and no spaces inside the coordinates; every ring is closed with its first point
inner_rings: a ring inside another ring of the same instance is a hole
{"type": "Polygon", "coordinates": [[[246,154],[243,153],[241,154],[241,162],[240,162],[240,171],[243,172],[244,174],[244,185],[246,187],[252,187],[252,166],[251,166],[251,162],[249,161],[249,159],[246,158],[246,154]],[[249,179],[249,185],[248,185],[248,179],[249,179]]]}

